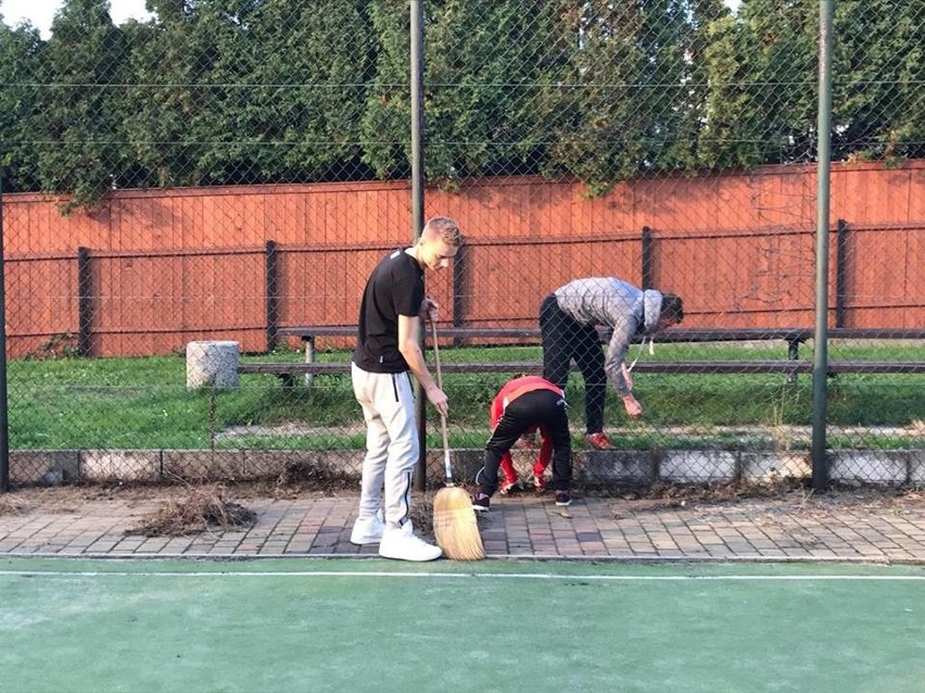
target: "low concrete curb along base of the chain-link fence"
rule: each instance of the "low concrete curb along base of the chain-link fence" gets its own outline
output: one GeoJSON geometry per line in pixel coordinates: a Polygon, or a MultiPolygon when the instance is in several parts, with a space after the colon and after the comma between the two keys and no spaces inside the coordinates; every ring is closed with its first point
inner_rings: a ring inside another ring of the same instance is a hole
{"type": "MultiPolygon", "coordinates": [[[[523,478],[532,475],[535,450],[511,451],[523,478]]],[[[55,486],[68,481],[220,481],[278,476],[292,465],[324,465],[359,478],[362,450],[28,450],[10,452],[15,484],[55,486]]],[[[471,479],[484,451],[452,451],[454,474],[471,479]]],[[[925,450],[839,450],[828,453],[828,478],[850,486],[925,484],[925,450]]],[[[771,482],[812,474],[809,452],[650,450],[581,451],[573,454],[578,481],[596,486],[771,482]]],[[[443,454],[428,453],[428,478],[443,479],[443,454]]]]}

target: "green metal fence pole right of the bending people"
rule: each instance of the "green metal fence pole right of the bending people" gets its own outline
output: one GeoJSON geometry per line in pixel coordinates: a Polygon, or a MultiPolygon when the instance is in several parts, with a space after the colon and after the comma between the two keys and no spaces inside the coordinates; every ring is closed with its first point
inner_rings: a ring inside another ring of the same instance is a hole
{"type": "Polygon", "coordinates": [[[812,488],[828,483],[825,424],[828,382],[828,198],[832,164],[832,17],[834,0],[819,3],[819,153],[815,201],[815,345],[812,366],[812,488]]]}

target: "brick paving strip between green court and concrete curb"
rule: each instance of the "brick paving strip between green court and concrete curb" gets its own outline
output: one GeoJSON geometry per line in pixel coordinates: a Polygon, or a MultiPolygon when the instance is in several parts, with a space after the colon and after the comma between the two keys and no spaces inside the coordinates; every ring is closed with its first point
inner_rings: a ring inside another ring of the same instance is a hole
{"type": "MultiPolygon", "coordinates": [[[[239,501],[256,514],[246,531],[189,537],[127,533],[162,504],[118,497],[63,509],[40,505],[0,513],[0,555],[54,556],[375,556],[354,546],[357,499],[239,501]]],[[[0,506],[2,507],[2,506],[0,506]]],[[[545,496],[496,497],[479,516],[490,557],[622,560],[866,560],[925,563],[925,502],[851,504],[750,499],[686,502],[579,497],[567,508],[545,496]]]]}

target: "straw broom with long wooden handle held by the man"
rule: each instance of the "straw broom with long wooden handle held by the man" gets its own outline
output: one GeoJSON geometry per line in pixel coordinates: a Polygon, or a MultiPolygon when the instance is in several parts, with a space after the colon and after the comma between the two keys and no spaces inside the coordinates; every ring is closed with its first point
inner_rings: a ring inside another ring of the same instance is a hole
{"type": "MultiPolygon", "coordinates": [[[[436,325],[433,329],[433,358],[436,364],[436,387],[443,390],[443,377],[440,373],[440,346],[436,343],[436,325]]],[[[481,560],[485,557],[479,525],[472,500],[465,489],[453,483],[453,468],[449,465],[449,437],[446,434],[446,416],[441,412],[440,427],[443,432],[443,467],[446,472],[446,486],[433,497],[433,534],[436,545],[452,560],[481,560]]]]}

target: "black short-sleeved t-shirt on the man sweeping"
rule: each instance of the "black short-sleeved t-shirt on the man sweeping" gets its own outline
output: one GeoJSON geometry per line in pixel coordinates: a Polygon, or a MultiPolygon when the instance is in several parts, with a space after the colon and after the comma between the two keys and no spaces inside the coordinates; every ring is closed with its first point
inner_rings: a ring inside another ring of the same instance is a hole
{"type": "Polygon", "coordinates": [[[408,370],[408,363],[398,351],[398,316],[417,316],[423,298],[423,269],[404,249],[376,265],[359,304],[353,362],[370,373],[408,370]]]}

